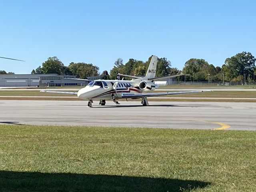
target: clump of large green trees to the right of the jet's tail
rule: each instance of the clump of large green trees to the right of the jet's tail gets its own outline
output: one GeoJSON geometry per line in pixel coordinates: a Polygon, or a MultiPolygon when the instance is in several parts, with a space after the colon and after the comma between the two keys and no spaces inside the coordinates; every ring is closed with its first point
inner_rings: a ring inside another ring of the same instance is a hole
{"type": "Polygon", "coordinates": [[[211,81],[245,82],[244,77],[254,80],[255,61],[256,58],[250,52],[241,52],[226,58],[222,67],[214,67],[204,59],[192,58],[185,63],[182,72],[187,75],[182,78],[185,81],[208,81],[211,79],[211,81]]]}

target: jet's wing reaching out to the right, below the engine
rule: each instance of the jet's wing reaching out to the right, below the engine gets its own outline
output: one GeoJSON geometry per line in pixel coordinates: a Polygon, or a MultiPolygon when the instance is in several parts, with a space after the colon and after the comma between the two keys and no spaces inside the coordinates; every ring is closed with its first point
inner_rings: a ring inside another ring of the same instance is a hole
{"type": "Polygon", "coordinates": [[[123,93],[122,98],[142,98],[142,97],[156,97],[164,95],[173,95],[173,94],[184,94],[184,93],[200,93],[200,92],[209,92],[210,90],[200,90],[200,91],[177,91],[177,92],[159,92],[159,93],[123,93]]]}

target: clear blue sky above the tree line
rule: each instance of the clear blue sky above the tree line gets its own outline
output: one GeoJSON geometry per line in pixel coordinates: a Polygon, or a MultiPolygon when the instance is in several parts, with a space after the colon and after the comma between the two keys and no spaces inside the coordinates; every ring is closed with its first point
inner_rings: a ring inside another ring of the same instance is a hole
{"type": "Polygon", "coordinates": [[[0,70],[30,74],[50,56],[110,71],[117,58],[166,57],[182,69],[190,58],[222,66],[256,56],[256,1],[0,0],[0,70]]]}

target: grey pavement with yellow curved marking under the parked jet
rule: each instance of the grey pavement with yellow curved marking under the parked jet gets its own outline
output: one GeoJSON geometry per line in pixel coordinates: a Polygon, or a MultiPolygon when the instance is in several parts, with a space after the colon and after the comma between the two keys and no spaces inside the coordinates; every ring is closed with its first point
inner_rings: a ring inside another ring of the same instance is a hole
{"type": "Polygon", "coordinates": [[[256,103],[0,100],[0,123],[256,130],[256,103]]]}

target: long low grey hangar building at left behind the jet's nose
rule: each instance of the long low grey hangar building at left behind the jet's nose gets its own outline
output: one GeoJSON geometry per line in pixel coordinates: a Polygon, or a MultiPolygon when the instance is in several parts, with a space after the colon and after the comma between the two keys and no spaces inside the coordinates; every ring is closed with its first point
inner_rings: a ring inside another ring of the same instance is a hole
{"type": "Polygon", "coordinates": [[[0,74],[0,87],[18,86],[85,86],[88,80],[74,75],[58,74],[0,74]]]}

